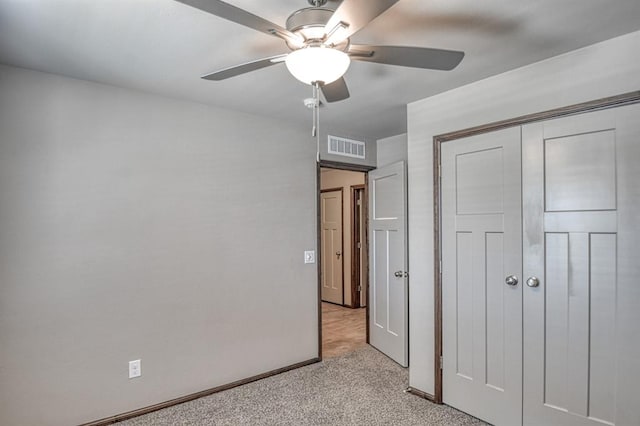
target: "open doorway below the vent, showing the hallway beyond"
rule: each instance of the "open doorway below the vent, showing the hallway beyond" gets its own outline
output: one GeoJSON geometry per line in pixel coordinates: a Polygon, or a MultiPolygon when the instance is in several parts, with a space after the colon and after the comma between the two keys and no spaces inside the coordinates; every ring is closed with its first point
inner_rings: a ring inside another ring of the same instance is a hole
{"type": "Polygon", "coordinates": [[[369,342],[367,169],[318,167],[319,356],[369,342]]]}

